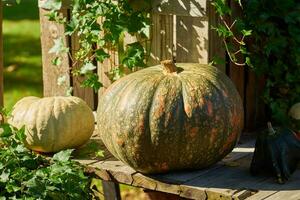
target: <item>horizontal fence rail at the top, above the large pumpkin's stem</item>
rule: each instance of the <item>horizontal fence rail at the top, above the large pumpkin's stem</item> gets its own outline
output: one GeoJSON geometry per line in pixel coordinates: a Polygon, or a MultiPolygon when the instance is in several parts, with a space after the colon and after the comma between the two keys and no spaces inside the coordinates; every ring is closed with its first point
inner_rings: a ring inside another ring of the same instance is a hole
{"type": "Polygon", "coordinates": [[[165,15],[206,17],[209,1],[203,0],[153,0],[152,12],[165,15]]]}

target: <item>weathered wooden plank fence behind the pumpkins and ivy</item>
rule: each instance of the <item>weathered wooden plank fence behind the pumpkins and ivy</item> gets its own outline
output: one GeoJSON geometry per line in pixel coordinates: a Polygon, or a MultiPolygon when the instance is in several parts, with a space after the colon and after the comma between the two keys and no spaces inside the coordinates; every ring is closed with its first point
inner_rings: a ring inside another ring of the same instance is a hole
{"type": "MultiPolygon", "coordinates": [[[[233,8],[233,10],[238,14],[237,9],[233,8]]],[[[111,59],[107,59],[103,64],[98,63],[97,73],[105,86],[99,94],[94,93],[92,89],[82,88],[80,86],[82,77],[70,75],[72,61],[68,54],[62,55],[62,64],[59,67],[51,63],[55,55],[49,54],[48,51],[53,46],[54,39],[63,37],[65,44],[71,49],[71,54],[78,49],[78,39],[76,36],[64,36],[63,25],[48,21],[45,17],[47,12],[47,10],[40,9],[44,95],[64,95],[65,91],[72,86],[73,95],[84,99],[95,110],[98,95],[101,95],[105,87],[111,84],[107,72],[111,70],[112,65],[118,64],[118,52],[109,51],[111,59]],[[66,81],[58,85],[57,79],[61,75],[66,77],[66,81]]],[[[70,16],[68,5],[63,6],[60,14],[70,16]]],[[[176,62],[196,63],[208,63],[214,56],[226,59],[222,42],[211,29],[211,26],[219,23],[219,19],[209,1],[153,0],[151,18],[151,52],[148,64],[158,64],[160,60],[174,57],[176,62]]],[[[130,42],[131,39],[125,38],[125,42],[126,40],[130,42]]],[[[249,69],[235,66],[230,62],[217,67],[232,79],[243,99],[245,128],[252,130],[259,126],[259,122],[262,122],[264,118],[264,106],[259,98],[263,81],[259,80],[249,69]]]]}

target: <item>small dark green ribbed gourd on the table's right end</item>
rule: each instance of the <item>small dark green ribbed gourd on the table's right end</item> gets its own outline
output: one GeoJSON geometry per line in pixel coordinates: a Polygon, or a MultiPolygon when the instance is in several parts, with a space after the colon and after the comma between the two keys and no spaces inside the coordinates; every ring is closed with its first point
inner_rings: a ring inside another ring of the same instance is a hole
{"type": "Polygon", "coordinates": [[[300,139],[289,128],[274,128],[261,133],[255,144],[250,172],[252,175],[271,173],[278,183],[286,182],[300,160],[300,139]]]}

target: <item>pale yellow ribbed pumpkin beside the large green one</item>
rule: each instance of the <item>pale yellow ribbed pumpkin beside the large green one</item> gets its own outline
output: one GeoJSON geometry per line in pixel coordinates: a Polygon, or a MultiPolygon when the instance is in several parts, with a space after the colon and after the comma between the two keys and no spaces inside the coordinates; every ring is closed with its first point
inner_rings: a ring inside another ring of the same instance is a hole
{"type": "Polygon", "coordinates": [[[25,126],[26,146],[39,152],[77,148],[94,131],[94,116],[78,97],[25,97],[13,108],[8,123],[25,126]]]}

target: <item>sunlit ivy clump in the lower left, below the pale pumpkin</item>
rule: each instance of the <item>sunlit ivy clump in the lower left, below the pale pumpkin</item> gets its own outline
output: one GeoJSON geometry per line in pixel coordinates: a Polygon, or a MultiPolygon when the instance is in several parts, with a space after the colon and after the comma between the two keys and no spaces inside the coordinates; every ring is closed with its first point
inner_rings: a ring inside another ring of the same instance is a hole
{"type": "Polygon", "coordinates": [[[24,128],[0,124],[0,199],[91,199],[91,180],[72,150],[51,159],[28,150],[24,128]]]}

